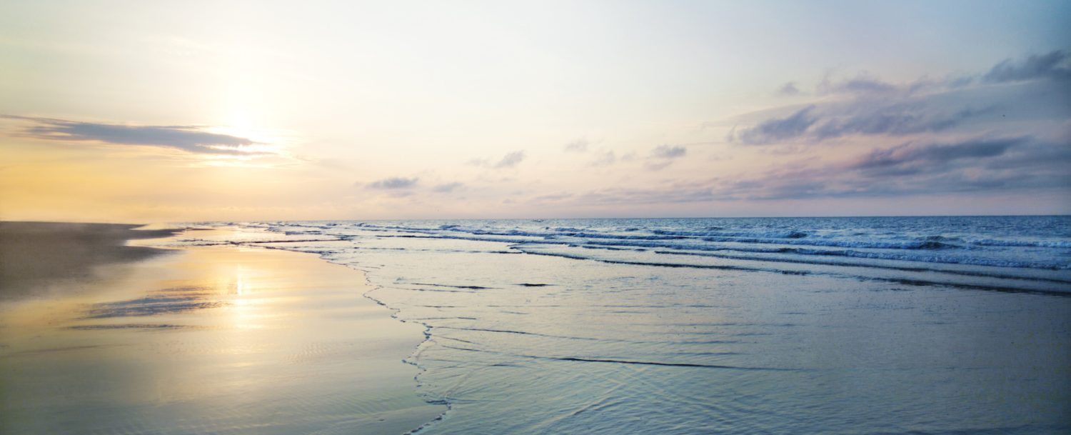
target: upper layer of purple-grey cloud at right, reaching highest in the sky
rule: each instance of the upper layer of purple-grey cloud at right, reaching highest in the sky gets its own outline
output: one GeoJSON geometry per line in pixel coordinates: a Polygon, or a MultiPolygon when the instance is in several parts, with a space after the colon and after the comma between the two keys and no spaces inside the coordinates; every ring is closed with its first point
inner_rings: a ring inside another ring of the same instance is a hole
{"type": "Polygon", "coordinates": [[[1028,134],[1042,123],[1071,118],[1071,109],[1057,96],[1066,95],[1069,85],[1071,55],[1062,50],[1005,60],[983,76],[923,77],[905,84],[881,81],[865,73],[841,81],[827,77],[818,85],[818,93],[826,96],[803,108],[771,109],[779,115],[735,126],[727,139],[775,145],[968,131],[1028,134]],[[787,110],[793,111],[786,116],[787,110]]]}

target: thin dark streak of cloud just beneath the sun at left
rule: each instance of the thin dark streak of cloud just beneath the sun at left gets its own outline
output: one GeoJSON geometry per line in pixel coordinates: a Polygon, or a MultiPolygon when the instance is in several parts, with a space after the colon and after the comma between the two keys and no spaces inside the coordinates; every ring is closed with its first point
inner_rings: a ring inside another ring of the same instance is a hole
{"type": "Polygon", "coordinates": [[[203,154],[255,155],[268,153],[248,148],[257,145],[253,139],[210,133],[196,125],[125,125],[12,115],[0,117],[32,122],[33,125],[22,129],[20,134],[36,139],[162,147],[203,154]]]}

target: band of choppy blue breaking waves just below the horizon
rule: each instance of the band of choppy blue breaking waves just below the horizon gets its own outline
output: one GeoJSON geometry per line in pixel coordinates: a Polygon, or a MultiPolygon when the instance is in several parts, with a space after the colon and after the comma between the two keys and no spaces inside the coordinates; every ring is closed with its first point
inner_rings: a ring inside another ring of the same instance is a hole
{"type": "MultiPolygon", "coordinates": [[[[561,222],[565,223],[565,221],[561,222]]],[[[638,248],[760,254],[754,258],[731,256],[735,259],[778,260],[770,258],[769,255],[786,255],[1019,269],[1071,269],[1069,261],[1059,259],[1061,255],[1066,256],[1071,252],[1035,255],[1014,251],[1027,248],[1066,250],[1071,248],[1071,240],[972,237],[966,235],[962,226],[954,227],[960,234],[933,235],[931,232],[927,236],[914,236],[912,232],[917,234],[920,229],[937,231],[940,230],[940,227],[915,223],[905,225],[902,230],[883,230],[884,228],[877,227],[734,229],[720,225],[706,225],[700,228],[666,228],[664,223],[651,222],[658,223],[659,226],[600,225],[595,228],[586,225],[554,225],[552,222],[547,222],[545,225],[542,223],[533,224],[531,221],[326,222],[275,223],[267,226],[269,230],[285,231],[287,235],[305,234],[338,237],[343,240],[359,237],[359,234],[346,231],[357,229],[359,231],[383,232],[377,237],[470,240],[509,244],[539,243],[629,251],[635,251],[638,248]],[[617,229],[613,229],[615,227],[617,229]],[[843,250],[836,248],[843,248],[843,250]]],[[[810,223],[811,221],[801,220],[800,222],[810,223]]],[[[729,256],[726,255],[726,257],[729,256]]]]}

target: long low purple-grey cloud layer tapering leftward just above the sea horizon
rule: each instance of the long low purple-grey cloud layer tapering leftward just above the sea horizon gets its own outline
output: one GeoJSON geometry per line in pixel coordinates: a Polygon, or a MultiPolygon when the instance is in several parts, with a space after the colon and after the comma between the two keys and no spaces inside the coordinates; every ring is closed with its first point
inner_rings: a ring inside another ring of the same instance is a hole
{"type": "Polygon", "coordinates": [[[906,142],[841,161],[816,159],[647,189],[602,189],[584,204],[673,204],[806,198],[891,198],[1071,189],[1071,144],[1035,136],[906,142]]]}

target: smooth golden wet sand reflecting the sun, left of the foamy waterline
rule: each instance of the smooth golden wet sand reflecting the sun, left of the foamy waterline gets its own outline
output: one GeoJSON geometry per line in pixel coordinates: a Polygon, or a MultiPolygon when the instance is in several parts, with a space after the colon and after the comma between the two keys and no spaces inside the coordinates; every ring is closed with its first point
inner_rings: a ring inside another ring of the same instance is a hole
{"type": "Polygon", "coordinates": [[[423,328],[363,298],[361,272],[169,252],[39,276],[51,289],[0,303],[0,433],[401,434],[444,410],[402,362],[423,328]]]}

